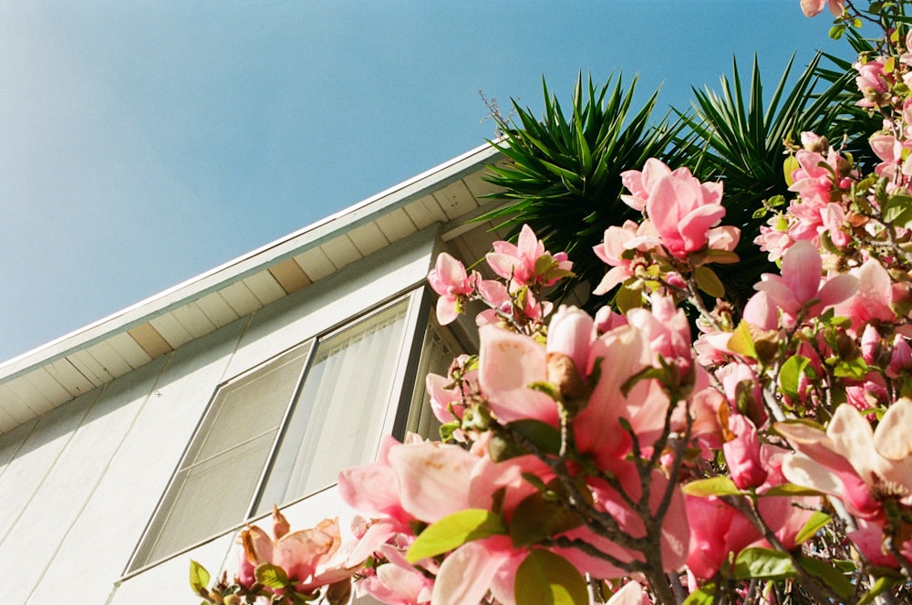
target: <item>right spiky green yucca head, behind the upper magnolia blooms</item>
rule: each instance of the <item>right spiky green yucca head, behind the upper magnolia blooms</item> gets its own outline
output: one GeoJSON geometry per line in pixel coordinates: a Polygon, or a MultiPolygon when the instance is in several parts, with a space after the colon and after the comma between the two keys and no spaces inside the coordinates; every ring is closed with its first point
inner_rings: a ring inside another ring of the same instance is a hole
{"type": "Polygon", "coordinates": [[[829,78],[822,78],[820,58],[814,57],[791,85],[790,61],[768,102],[764,102],[756,57],[749,87],[744,86],[735,61],[731,81],[721,78],[719,93],[694,89],[693,112],[680,114],[687,130],[678,144],[700,150],[685,158],[686,165],[702,181],[724,183],[725,224],[741,227],[736,249],[741,263],[717,270],[736,302],[751,296],[751,286],[762,272],[775,270],[753,239],[769,218],[762,213],[764,201],[793,198],[783,172],[785,143],[800,144],[801,133],[813,131],[836,147],[845,144],[845,151],[862,163],[870,157],[866,136],[844,140],[849,132],[873,132],[879,127],[876,120],[870,125],[860,121],[871,119],[855,108],[858,97],[853,92],[851,65],[837,65],[829,78]],[[861,124],[864,127],[859,129],[861,124]]]}

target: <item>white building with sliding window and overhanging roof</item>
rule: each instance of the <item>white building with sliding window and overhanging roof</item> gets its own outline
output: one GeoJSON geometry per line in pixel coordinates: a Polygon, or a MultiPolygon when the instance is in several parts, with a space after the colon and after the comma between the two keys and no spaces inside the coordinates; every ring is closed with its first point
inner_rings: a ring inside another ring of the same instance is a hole
{"type": "Polygon", "coordinates": [[[198,603],[190,559],[223,568],[273,502],[293,527],[344,516],[337,471],[432,432],[423,376],[472,347],[435,326],[425,276],[498,238],[466,224],[498,159],[470,151],[0,365],[4,602],[198,603]]]}

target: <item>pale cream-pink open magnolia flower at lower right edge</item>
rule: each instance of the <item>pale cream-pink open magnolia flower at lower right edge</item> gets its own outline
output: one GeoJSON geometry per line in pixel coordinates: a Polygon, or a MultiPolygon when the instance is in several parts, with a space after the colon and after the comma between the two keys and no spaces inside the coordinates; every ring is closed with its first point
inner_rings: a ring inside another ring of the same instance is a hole
{"type": "Polygon", "coordinates": [[[846,403],[836,408],[825,433],[807,424],[777,423],[776,431],[795,449],[782,473],[794,484],[841,499],[853,515],[879,522],[884,500],[912,505],[910,422],[912,400],[903,398],[876,429],[846,403]]]}

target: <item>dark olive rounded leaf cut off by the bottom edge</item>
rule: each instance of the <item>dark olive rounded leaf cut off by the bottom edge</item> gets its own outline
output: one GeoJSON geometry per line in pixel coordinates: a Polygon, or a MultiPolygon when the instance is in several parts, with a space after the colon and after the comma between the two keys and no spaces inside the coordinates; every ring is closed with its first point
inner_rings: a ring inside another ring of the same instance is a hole
{"type": "Polygon", "coordinates": [[[516,605],[588,605],[586,580],[568,560],[534,549],[516,569],[516,605]]]}

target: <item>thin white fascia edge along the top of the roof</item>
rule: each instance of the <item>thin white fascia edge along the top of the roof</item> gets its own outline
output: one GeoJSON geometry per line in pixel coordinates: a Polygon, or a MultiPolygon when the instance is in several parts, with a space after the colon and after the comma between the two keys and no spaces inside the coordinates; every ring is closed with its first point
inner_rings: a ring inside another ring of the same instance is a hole
{"type": "Polygon", "coordinates": [[[163,292],[140,300],[128,308],[121,309],[106,318],[98,319],[88,326],[76,329],[36,349],[0,363],[0,381],[13,380],[34,370],[36,367],[53,363],[107,339],[114,334],[134,328],[150,319],[157,318],[174,308],[198,300],[222,287],[254,275],[269,266],[296,256],[306,249],[338,235],[340,232],[367,224],[378,215],[395,210],[425,195],[431,187],[439,188],[465,174],[477,170],[482,163],[491,163],[501,152],[492,144],[485,143],[461,155],[421,172],[403,183],[368,197],[325,219],[285,235],[272,243],[256,248],[243,256],[181,282],[163,292]]]}

